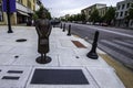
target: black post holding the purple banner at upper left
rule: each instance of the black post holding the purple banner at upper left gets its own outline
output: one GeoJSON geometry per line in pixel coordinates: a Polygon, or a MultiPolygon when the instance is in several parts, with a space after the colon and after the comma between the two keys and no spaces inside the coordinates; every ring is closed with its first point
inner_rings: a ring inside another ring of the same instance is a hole
{"type": "Polygon", "coordinates": [[[7,16],[8,16],[8,33],[13,33],[13,31],[11,30],[11,21],[10,21],[10,1],[7,0],[7,16]]]}

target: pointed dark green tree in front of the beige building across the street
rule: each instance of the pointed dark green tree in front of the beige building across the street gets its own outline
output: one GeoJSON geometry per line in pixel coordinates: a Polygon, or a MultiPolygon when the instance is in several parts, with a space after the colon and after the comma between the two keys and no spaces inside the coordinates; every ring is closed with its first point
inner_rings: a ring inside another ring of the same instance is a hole
{"type": "Polygon", "coordinates": [[[91,22],[93,22],[93,24],[94,24],[95,22],[99,22],[100,15],[99,15],[98,9],[95,9],[95,10],[91,13],[89,20],[90,20],[91,22]]]}

